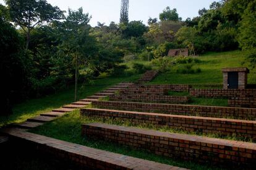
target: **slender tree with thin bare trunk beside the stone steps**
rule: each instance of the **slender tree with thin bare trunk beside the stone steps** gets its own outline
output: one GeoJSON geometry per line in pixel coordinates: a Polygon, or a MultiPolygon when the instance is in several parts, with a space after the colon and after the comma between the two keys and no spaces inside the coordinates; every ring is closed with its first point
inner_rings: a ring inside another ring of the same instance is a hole
{"type": "Polygon", "coordinates": [[[61,56],[70,56],[75,65],[75,101],[77,101],[77,83],[79,79],[79,68],[87,65],[93,58],[96,50],[96,40],[89,35],[91,17],[83,14],[80,7],[78,11],[69,9],[68,16],[63,23],[62,44],[59,46],[61,56]]]}

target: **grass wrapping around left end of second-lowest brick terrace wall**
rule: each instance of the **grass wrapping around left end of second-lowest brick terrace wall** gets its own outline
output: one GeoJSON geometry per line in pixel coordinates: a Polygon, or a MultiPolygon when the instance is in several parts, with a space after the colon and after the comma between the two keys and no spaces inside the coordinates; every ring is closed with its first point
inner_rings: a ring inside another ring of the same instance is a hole
{"type": "Polygon", "coordinates": [[[135,124],[131,121],[123,121],[121,119],[101,119],[97,117],[87,117],[80,116],[79,111],[74,111],[73,113],[66,114],[66,116],[61,117],[53,122],[48,122],[45,125],[38,127],[36,129],[32,129],[31,132],[36,134],[45,135],[48,137],[57,138],[59,140],[64,140],[67,142],[77,143],[80,145],[85,145],[88,147],[98,148],[101,150],[111,151],[114,153],[120,153],[123,155],[134,156],[135,158],[148,159],[151,161],[156,161],[164,164],[171,164],[173,166],[179,166],[190,169],[218,169],[214,166],[208,164],[197,164],[191,161],[181,161],[178,159],[167,158],[164,156],[158,156],[153,153],[148,153],[144,150],[135,150],[130,147],[124,147],[122,145],[116,145],[111,142],[104,142],[101,140],[93,140],[90,138],[81,136],[81,124],[89,123],[89,122],[103,122],[108,124],[116,124],[116,125],[124,125],[124,126],[133,126],[139,128],[147,128],[147,129],[156,129],[161,130],[163,132],[175,132],[181,134],[194,134],[194,135],[203,135],[209,137],[218,137],[218,138],[229,138],[233,140],[246,140],[250,141],[250,139],[229,136],[223,137],[221,134],[200,134],[200,133],[188,133],[186,131],[182,131],[179,129],[170,129],[169,127],[155,127],[150,124],[135,124]]]}

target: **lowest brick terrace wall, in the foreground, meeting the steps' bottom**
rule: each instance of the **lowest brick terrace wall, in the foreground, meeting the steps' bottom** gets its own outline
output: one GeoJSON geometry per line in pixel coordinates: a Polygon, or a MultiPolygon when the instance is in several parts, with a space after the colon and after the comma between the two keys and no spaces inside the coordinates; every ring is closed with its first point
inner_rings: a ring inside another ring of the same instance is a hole
{"type": "Polygon", "coordinates": [[[72,163],[79,164],[83,169],[185,170],[167,164],[85,147],[17,129],[6,129],[5,133],[14,139],[19,139],[20,147],[27,147],[28,150],[33,149],[39,152],[43,151],[51,156],[61,158],[63,161],[72,161],[72,163]]]}

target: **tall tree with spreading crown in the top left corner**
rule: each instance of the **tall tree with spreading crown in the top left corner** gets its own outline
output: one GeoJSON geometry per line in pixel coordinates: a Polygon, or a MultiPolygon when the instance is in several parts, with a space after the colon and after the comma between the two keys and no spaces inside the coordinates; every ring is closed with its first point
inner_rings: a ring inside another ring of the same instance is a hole
{"type": "Polygon", "coordinates": [[[30,43],[31,30],[36,25],[63,17],[63,11],[57,6],[51,6],[46,0],[6,0],[6,4],[12,21],[27,35],[26,49],[30,43]]]}

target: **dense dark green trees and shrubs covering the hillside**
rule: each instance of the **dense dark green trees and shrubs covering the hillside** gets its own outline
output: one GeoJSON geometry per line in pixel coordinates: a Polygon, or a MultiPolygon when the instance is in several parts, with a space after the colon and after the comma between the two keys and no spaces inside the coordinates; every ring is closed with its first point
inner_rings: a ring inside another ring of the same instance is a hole
{"type": "MultiPolygon", "coordinates": [[[[189,48],[191,55],[242,49],[256,65],[256,0],[222,0],[183,20],[177,9],[166,7],[148,25],[128,18],[123,1],[120,23],[89,25],[82,8],[61,11],[45,0],[6,0],[0,5],[1,103],[11,104],[53,93],[100,74],[127,75],[122,61],[151,61],[161,71],[173,64],[169,49],[189,48]],[[17,98],[17,96],[19,96],[17,98]]],[[[150,67],[133,64],[135,73],[150,67]]],[[[195,68],[196,69],[196,68],[195,68]]],[[[130,71],[130,70],[129,70],[130,71]]],[[[187,63],[181,72],[199,72],[187,63]]],[[[77,91],[77,90],[76,90],[77,91]]]]}

